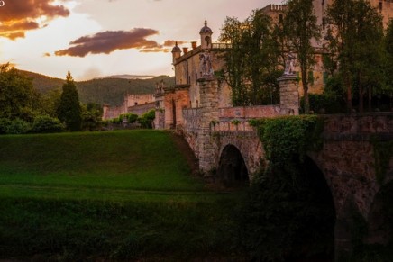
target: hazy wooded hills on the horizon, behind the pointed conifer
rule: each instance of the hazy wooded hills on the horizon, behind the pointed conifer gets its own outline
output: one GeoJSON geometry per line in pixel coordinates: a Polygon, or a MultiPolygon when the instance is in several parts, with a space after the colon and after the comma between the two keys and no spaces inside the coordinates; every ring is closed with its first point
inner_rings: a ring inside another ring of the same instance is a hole
{"type": "MultiPolygon", "coordinates": [[[[32,78],[32,85],[41,93],[45,94],[52,89],[61,88],[65,79],[48,77],[30,71],[20,72],[32,78]]],[[[123,104],[124,95],[126,94],[152,94],[155,91],[156,83],[161,80],[166,86],[175,84],[175,77],[169,76],[134,76],[134,75],[117,75],[110,77],[95,78],[87,81],[76,81],[79,100],[87,104],[93,102],[96,104],[110,104],[117,106],[123,104]]]]}

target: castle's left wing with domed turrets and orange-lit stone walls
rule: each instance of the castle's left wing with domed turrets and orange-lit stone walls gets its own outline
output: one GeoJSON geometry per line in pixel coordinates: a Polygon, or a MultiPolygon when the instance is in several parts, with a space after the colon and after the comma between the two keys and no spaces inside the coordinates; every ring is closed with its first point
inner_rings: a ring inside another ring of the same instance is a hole
{"type": "MultiPolygon", "coordinates": [[[[175,70],[175,86],[160,86],[156,90],[157,111],[155,126],[158,129],[180,127],[183,123],[183,109],[201,106],[199,79],[214,77],[215,71],[224,67],[220,53],[225,44],[212,42],[212,30],[207,22],[199,32],[200,45],[191,42],[191,50],[178,47],[172,50],[172,65],[175,70]]],[[[232,106],[231,88],[223,81],[218,86],[220,107],[232,106]]]]}

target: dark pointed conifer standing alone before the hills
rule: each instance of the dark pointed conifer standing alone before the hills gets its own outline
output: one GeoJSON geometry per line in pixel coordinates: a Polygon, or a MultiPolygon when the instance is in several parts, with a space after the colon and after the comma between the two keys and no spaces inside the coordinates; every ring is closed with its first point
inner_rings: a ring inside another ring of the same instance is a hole
{"type": "Polygon", "coordinates": [[[65,122],[69,131],[81,130],[82,117],[78,90],[70,73],[67,74],[66,83],[63,85],[57,113],[59,120],[65,122]]]}

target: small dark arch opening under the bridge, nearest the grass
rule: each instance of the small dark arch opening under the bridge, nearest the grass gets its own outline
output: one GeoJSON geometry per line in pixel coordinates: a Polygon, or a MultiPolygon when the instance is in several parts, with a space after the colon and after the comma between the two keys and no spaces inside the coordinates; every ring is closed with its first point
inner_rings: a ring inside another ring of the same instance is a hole
{"type": "Polygon", "coordinates": [[[239,149],[227,145],[221,153],[217,169],[218,179],[226,186],[249,185],[249,172],[239,149]]]}

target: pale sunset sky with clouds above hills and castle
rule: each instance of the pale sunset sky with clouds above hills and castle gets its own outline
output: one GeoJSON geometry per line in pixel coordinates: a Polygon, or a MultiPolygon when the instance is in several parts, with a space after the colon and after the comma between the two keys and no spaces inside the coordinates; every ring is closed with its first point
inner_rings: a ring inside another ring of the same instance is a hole
{"type": "Polygon", "coordinates": [[[226,16],[282,0],[0,0],[0,64],[50,77],[169,75],[174,41],[190,47],[205,19],[216,41],[226,16]]]}

